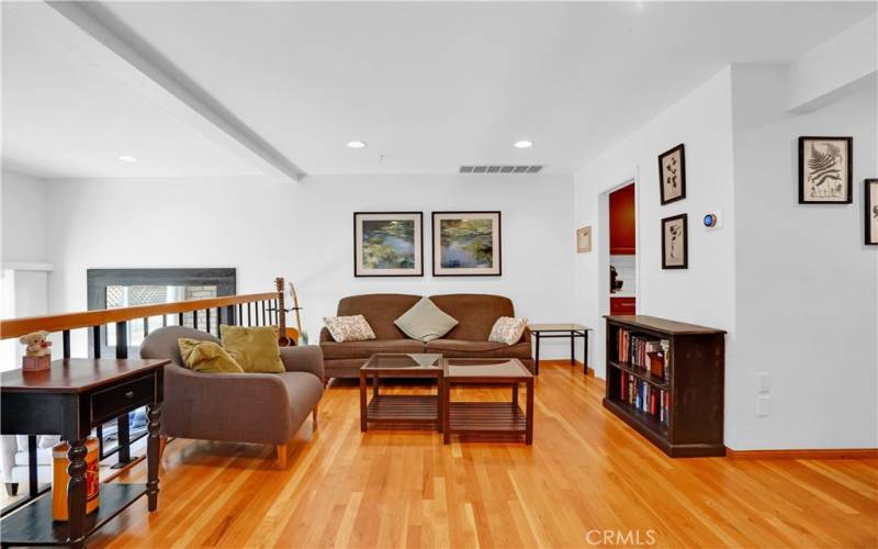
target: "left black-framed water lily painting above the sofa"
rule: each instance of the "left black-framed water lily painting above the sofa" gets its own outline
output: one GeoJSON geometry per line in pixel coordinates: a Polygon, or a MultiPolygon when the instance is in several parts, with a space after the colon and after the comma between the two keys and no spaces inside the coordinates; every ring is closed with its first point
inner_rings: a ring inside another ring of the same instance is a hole
{"type": "Polygon", "coordinates": [[[354,212],[354,277],[423,277],[424,213],[354,212]]]}

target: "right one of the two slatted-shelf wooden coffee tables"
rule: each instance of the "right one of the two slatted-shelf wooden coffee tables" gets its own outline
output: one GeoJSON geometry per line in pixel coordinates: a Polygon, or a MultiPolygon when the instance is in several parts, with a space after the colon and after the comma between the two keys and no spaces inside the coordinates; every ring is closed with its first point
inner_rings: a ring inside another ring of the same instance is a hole
{"type": "Polygon", "coordinates": [[[451,435],[524,435],[533,442],[533,376],[517,358],[446,359],[441,379],[444,444],[451,435]],[[526,412],[518,406],[518,385],[527,385],[526,412]],[[511,402],[451,402],[453,385],[511,386],[511,402]]]}

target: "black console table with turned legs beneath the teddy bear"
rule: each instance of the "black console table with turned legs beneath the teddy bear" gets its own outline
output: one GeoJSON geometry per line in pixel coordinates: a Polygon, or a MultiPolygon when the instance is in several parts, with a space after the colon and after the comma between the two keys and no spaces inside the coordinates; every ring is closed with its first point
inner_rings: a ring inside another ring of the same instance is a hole
{"type": "Polygon", "coordinates": [[[52,518],[43,494],[0,522],[0,544],[83,547],[86,538],[144,494],[158,507],[159,419],[168,360],[64,359],[40,372],[12,370],[0,382],[3,435],[60,435],[70,450],[68,522],[52,518]],[[146,484],[101,484],[100,507],[86,515],[86,439],[102,423],[148,406],[146,484]]]}

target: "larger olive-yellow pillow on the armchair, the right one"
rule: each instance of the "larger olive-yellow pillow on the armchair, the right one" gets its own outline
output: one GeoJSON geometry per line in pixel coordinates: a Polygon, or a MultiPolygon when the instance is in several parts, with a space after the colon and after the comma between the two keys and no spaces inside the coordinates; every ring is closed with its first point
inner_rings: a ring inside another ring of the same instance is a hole
{"type": "Polygon", "coordinates": [[[223,348],[248,373],[284,372],[278,326],[219,326],[223,348]]]}

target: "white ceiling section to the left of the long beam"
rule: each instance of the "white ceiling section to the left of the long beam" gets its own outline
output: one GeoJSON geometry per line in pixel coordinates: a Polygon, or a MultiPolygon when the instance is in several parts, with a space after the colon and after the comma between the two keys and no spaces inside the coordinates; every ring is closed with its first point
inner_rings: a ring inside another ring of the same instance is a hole
{"type": "Polygon", "coordinates": [[[71,48],[57,29],[34,26],[41,8],[2,5],[4,168],[46,178],[259,173],[103,70],[105,48],[71,48]]]}

